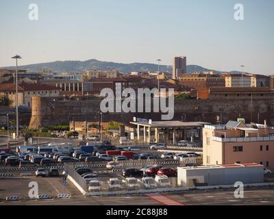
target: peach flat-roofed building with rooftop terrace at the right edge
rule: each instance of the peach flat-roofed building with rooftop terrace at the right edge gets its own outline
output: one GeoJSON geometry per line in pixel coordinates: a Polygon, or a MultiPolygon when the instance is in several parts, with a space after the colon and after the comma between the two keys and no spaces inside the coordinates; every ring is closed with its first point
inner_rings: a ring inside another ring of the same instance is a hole
{"type": "Polygon", "coordinates": [[[274,136],[266,125],[229,121],[203,128],[203,165],[257,163],[274,170],[274,136]]]}

